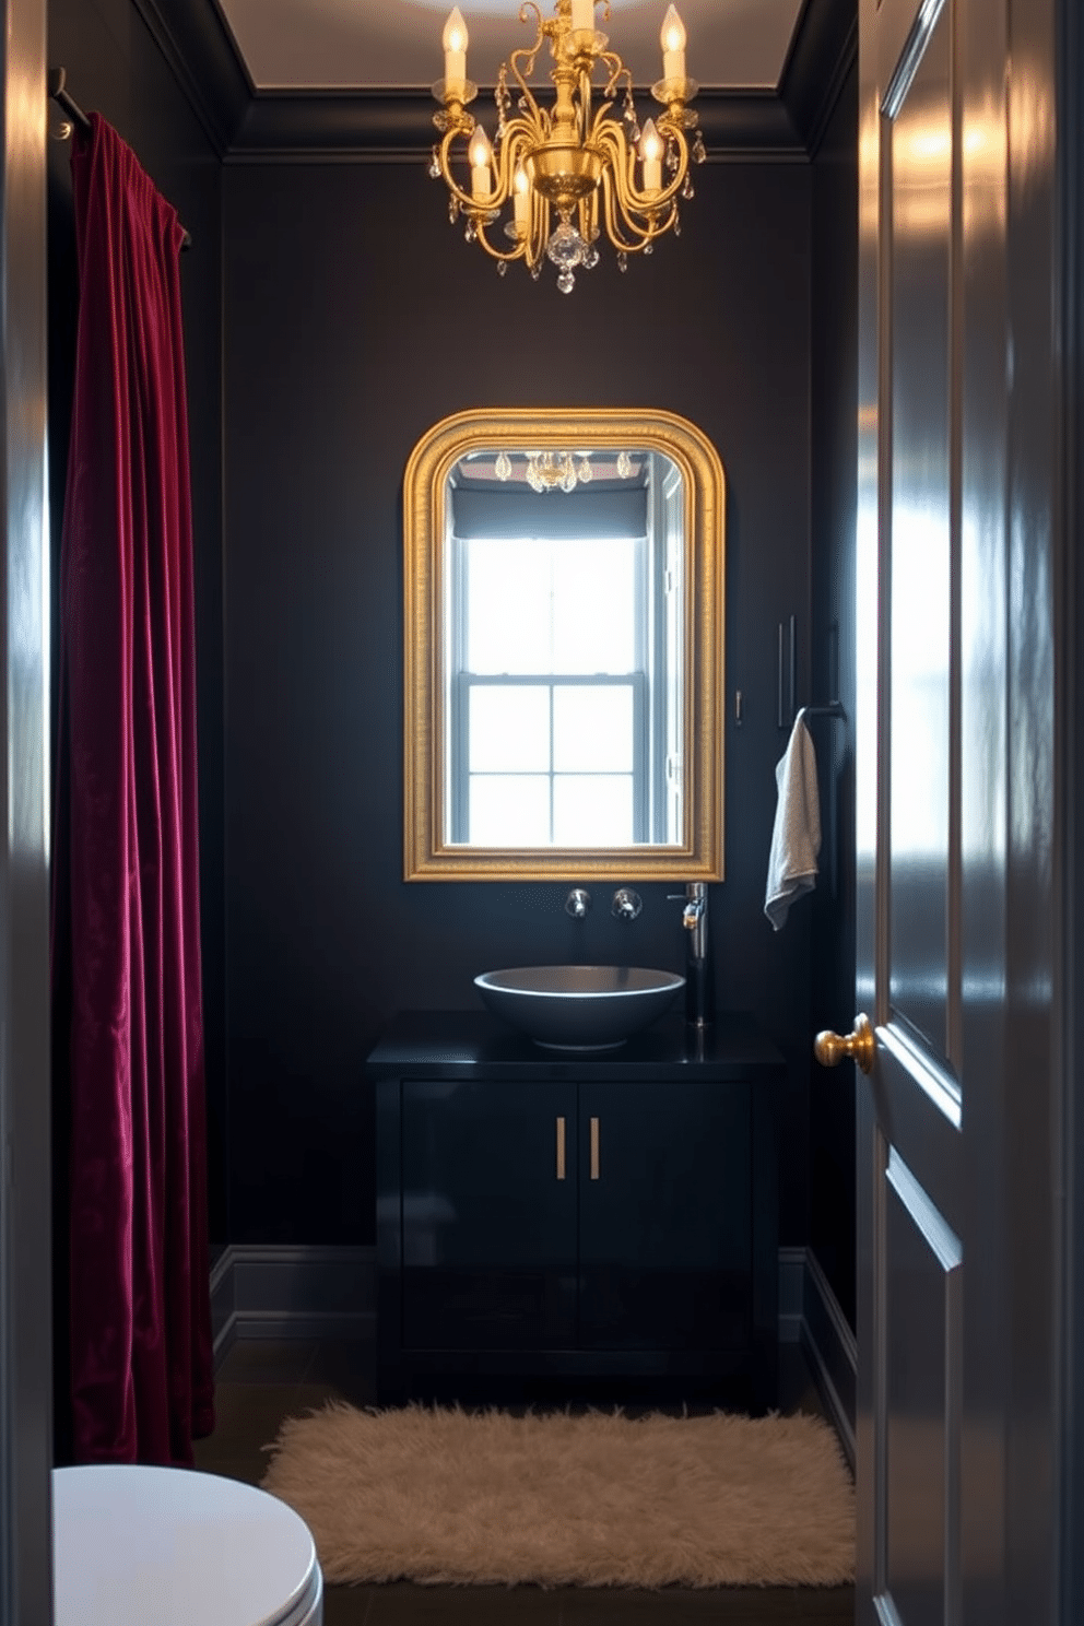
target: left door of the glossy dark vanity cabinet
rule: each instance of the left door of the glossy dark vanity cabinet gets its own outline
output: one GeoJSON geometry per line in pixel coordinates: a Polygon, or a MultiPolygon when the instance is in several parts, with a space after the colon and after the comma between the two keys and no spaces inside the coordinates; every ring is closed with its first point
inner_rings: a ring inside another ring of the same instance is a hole
{"type": "Polygon", "coordinates": [[[401,1088],[403,1346],[570,1348],[575,1086],[401,1088]]]}

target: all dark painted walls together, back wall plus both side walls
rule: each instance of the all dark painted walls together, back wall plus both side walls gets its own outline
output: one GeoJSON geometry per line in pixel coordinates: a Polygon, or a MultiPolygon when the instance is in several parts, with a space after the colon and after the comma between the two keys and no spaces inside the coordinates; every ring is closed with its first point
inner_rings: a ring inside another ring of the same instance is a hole
{"type": "MultiPolygon", "coordinates": [[[[465,406],[658,405],[707,431],[728,476],[718,1002],[752,1010],[787,1054],[782,1237],[813,1234],[850,1309],[850,1080],[811,1086],[808,1062],[813,1028],[850,1018],[850,751],[834,725],[817,733],[822,886],[778,935],[762,894],[785,743],[782,620],[798,616],[800,699],[829,693],[835,667],[848,698],[853,89],[814,166],[705,166],[679,242],[626,276],[605,259],[564,298],[551,276],[501,281],[447,226],[423,164],[223,171],[130,0],[55,0],[49,55],[135,146],[195,239],[182,280],[213,1237],[372,1237],[362,1063],[393,1010],[473,1005],[471,976],[518,959],[681,967],[665,885],[644,886],[644,914],[622,927],[600,885],[575,924],[564,886],[400,878],[400,504],[413,444],[465,406]]],[[[67,153],[52,143],[57,532],[76,301],[67,153]]]]}

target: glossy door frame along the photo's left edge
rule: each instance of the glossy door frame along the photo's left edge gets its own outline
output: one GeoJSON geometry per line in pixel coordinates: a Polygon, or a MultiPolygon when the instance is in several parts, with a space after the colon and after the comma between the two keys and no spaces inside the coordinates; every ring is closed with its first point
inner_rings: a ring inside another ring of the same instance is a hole
{"type": "Polygon", "coordinates": [[[46,0],[7,0],[0,182],[0,1619],[52,1621],[46,0]]]}

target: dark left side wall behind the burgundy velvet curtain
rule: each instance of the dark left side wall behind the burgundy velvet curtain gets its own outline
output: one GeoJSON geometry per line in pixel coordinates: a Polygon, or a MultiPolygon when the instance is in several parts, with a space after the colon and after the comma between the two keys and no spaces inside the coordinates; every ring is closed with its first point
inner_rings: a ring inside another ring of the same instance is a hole
{"type": "MultiPolygon", "coordinates": [[[[211,1234],[224,1234],[223,1072],[223,613],[221,613],[221,164],[132,0],[50,0],[49,62],[137,151],[193,239],[182,255],[195,535],[197,704],[203,1013],[210,1114],[211,1234]]],[[[60,111],[50,104],[50,125],[60,111]]],[[[70,141],[49,143],[49,483],[55,580],[72,413],[78,280],[70,141]]],[[[55,662],[54,662],[55,673],[55,662]]],[[[54,681],[54,709],[57,686],[54,681]]],[[[59,1102],[62,1107],[62,1102],[59,1102]]],[[[60,1117],[60,1112],[59,1112],[60,1117]]],[[[60,1125],[62,1127],[62,1125],[60,1125]]],[[[60,1190],[60,1187],[59,1187],[60,1190]]]]}

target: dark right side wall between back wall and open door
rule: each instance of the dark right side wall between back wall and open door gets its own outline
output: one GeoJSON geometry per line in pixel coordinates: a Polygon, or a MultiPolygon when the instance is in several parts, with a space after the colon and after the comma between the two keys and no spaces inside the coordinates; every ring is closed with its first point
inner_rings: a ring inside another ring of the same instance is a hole
{"type": "MultiPolygon", "coordinates": [[[[858,473],[858,73],[813,164],[813,683],[847,722],[814,722],[824,811],[813,904],[814,1028],[855,1016],[855,512],[858,473]]],[[[855,1068],[813,1065],[809,1239],[855,1325],[855,1068]]]]}

